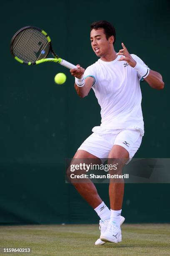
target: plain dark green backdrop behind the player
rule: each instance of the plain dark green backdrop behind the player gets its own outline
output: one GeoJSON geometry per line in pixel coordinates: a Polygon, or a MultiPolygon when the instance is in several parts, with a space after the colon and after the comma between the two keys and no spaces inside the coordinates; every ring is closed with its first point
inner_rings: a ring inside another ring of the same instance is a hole
{"type": "MultiPolygon", "coordinates": [[[[145,136],[136,157],[170,157],[169,8],[167,0],[6,0],[1,7],[0,223],[96,223],[98,218],[71,184],[65,184],[65,158],[100,125],[94,93],[80,99],[69,70],[54,63],[28,67],[10,55],[13,34],[37,26],[50,35],[54,50],[73,64],[97,60],[90,24],[106,19],[116,28],[115,50],[125,44],[163,75],[165,89],[143,82],[145,136]],[[58,72],[65,84],[54,83],[58,72]]],[[[97,184],[108,202],[108,184],[97,184]]],[[[127,222],[168,222],[169,184],[126,184],[127,222]],[[149,213],[148,213],[149,212],[149,213]],[[162,214],[162,212],[164,212],[162,214]]]]}

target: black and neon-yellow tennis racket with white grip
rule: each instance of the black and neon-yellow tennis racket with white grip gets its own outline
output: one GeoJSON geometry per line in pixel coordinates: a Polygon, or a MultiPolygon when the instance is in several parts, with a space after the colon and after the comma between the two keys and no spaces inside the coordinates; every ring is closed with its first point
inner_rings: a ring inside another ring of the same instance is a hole
{"type": "Polygon", "coordinates": [[[68,69],[77,68],[55,54],[50,37],[40,28],[32,26],[21,28],[11,40],[10,51],[14,58],[23,64],[34,65],[50,61],[68,69]],[[54,58],[46,58],[50,52],[54,58]]]}

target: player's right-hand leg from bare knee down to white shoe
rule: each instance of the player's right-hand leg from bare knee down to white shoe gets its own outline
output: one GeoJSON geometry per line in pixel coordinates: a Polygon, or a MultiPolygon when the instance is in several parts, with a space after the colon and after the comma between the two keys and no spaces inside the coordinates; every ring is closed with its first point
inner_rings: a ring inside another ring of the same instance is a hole
{"type": "MultiPolygon", "coordinates": [[[[129,159],[128,151],[119,145],[114,145],[110,151],[108,164],[117,164],[116,171],[110,171],[110,174],[122,174],[122,168],[129,159]]],[[[120,229],[120,215],[122,210],[122,201],[124,194],[124,180],[110,179],[109,197],[110,197],[110,222],[107,225],[107,230],[100,236],[104,242],[117,243],[122,241],[120,229]]]]}

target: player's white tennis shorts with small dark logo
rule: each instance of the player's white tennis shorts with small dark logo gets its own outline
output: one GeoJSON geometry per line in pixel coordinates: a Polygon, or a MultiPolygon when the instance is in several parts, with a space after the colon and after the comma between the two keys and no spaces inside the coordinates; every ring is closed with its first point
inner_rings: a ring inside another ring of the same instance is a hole
{"type": "Polygon", "coordinates": [[[104,129],[95,126],[92,134],[81,144],[78,150],[85,150],[100,159],[107,159],[113,145],[120,145],[129,152],[132,159],[142,142],[140,131],[125,129],[104,129]]]}

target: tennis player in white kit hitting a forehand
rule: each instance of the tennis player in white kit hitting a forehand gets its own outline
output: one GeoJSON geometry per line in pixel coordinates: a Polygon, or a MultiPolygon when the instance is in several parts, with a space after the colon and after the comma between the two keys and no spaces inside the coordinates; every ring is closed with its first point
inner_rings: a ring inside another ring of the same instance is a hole
{"type": "MultiPolygon", "coordinates": [[[[140,81],[150,87],[164,88],[162,76],[151,69],[135,54],[129,54],[125,44],[115,52],[115,28],[106,20],[91,24],[90,41],[92,50],[99,59],[83,69],[71,69],[75,77],[75,90],[80,97],[94,90],[101,107],[101,125],[92,129],[92,134],[78,148],[74,159],[132,159],[140,147],[144,135],[141,109],[140,81]]],[[[73,159],[73,161],[74,161],[73,159]]],[[[73,183],[80,195],[93,207],[100,217],[100,238],[95,242],[122,241],[120,224],[124,182],[110,182],[110,209],[105,205],[92,182],[73,183]]]]}

